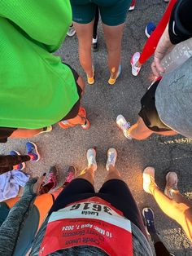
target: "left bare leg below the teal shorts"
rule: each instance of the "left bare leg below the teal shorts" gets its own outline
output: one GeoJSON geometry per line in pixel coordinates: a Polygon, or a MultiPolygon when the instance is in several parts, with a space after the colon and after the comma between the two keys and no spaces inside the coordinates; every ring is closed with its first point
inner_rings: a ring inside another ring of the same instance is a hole
{"type": "Polygon", "coordinates": [[[93,77],[94,73],[92,69],[91,46],[94,20],[89,24],[78,24],[76,22],[73,24],[79,41],[79,58],[81,66],[88,77],[93,77]]]}

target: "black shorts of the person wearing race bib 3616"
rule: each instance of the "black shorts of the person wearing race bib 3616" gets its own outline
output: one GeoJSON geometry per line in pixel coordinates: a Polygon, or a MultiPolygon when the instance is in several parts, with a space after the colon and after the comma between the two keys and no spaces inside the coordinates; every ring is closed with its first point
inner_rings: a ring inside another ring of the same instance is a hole
{"type": "MultiPolygon", "coordinates": [[[[103,184],[98,192],[94,191],[94,186],[85,179],[73,179],[63,192],[59,194],[51,207],[49,215],[53,211],[63,209],[68,204],[81,201],[92,196],[98,196],[109,202],[112,206],[120,210],[124,217],[134,223],[146,236],[142,216],[138,210],[137,203],[130,192],[128,185],[120,179],[111,179],[103,184]]],[[[147,237],[147,236],[146,236],[147,237]]]]}

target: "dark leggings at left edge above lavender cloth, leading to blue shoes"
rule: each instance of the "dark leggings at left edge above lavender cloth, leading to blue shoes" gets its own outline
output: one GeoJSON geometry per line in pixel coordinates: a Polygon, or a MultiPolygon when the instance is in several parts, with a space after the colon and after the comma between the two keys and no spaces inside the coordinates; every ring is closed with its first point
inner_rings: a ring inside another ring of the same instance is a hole
{"type": "Polygon", "coordinates": [[[29,161],[31,158],[28,155],[25,156],[0,156],[0,174],[4,174],[7,171],[13,170],[13,166],[19,165],[24,161],[29,161]]]}

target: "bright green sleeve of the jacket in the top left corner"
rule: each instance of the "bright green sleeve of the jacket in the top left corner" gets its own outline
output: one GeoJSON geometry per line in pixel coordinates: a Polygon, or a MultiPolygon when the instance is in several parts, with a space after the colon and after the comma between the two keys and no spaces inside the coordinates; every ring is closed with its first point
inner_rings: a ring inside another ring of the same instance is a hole
{"type": "Polygon", "coordinates": [[[1,0],[0,16],[53,52],[72,23],[72,8],[69,0],[1,0]]]}

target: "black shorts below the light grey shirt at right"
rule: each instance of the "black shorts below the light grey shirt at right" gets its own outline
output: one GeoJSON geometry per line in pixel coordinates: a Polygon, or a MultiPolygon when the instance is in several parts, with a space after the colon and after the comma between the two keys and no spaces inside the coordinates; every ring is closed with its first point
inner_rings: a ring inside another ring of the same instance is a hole
{"type": "Polygon", "coordinates": [[[146,94],[141,99],[142,109],[138,113],[145,125],[153,131],[168,131],[172,130],[160,120],[155,107],[155,91],[159,85],[160,80],[152,84],[146,91],[146,94]]]}

